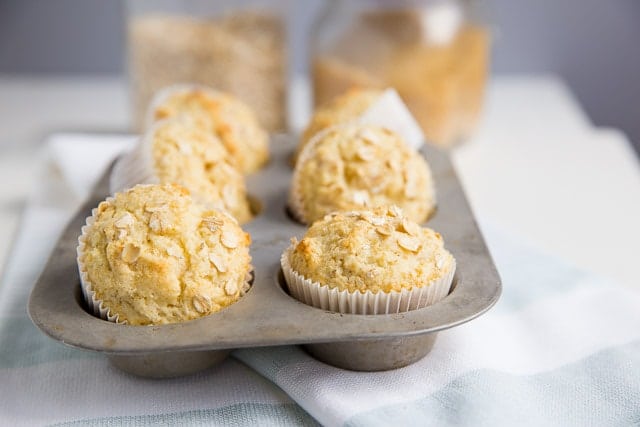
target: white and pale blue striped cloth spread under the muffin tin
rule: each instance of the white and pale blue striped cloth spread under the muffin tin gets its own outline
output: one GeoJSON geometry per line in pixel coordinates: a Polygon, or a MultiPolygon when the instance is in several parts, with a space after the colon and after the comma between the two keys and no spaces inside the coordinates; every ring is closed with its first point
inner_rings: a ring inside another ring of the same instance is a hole
{"type": "Polygon", "coordinates": [[[238,350],[200,374],[152,381],[46,338],[26,315],[28,293],[92,182],[130,144],[130,137],[59,135],[43,153],[43,176],[0,288],[0,420],[7,425],[640,423],[640,294],[515,243],[486,222],[501,300],[440,333],[425,359],[403,369],[350,372],[286,346],[238,350]]]}

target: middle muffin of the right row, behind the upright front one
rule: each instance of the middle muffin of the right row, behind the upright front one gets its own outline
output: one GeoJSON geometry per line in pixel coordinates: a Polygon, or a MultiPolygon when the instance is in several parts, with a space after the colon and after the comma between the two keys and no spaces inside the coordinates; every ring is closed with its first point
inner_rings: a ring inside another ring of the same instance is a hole
{"type": "Polygon", "coordinates": [[[335,126],[301,153],[289,194],[291,211],[301,222],[392,204],[415,222],[425,221],[435,208],[427,162],[396,133],[358,123],[335,126]]]}

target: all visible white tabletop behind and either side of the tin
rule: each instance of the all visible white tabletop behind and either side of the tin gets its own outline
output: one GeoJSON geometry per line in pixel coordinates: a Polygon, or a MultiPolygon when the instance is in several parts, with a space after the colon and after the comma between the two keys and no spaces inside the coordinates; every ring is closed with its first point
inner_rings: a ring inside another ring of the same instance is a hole
{"type": "MultiPolygon", "coordinates": [[[[299,86],[299,85],[298,85],[299,86]]],[[[123,130],[126,87],[111,78],[0,78],[0,262],[10,245],[36,142],[51,131],[123,130]],[[11,148],[6,148],[11,147],[11,148]]],[[[292,96],[295,128],[308,90],[292,96]]],[[[476,211],[575,265],[640,287],[640,178],[628,141],[591,128],[552,77],[493,81],[477,136],[454,151],[476,211]]]]}

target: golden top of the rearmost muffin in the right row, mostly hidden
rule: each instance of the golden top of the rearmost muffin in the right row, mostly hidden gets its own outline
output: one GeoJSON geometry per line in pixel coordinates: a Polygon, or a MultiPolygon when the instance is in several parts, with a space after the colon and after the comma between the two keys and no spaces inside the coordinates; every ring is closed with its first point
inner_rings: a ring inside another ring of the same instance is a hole
{"type": "Polygon", "coordinates": [[[295,159],[300,156],[302,149],[315,134],[328,127],[357,119],[380,98],[382,93],[382,90],[377,89],[354,88],[318,108],[302,133],[300,144],[296,148],[295,159]]]}

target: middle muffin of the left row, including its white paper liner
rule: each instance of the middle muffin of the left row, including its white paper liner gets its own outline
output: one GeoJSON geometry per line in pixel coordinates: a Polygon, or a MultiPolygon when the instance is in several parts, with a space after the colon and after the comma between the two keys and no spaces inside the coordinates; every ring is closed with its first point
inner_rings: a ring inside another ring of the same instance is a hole
{"type": "Polygon", "coordinates": [[[252,217],[244,176],[220,140],[187,116],[156,123],[137,147],[116,163],[111,191],[136,184],[175,183],[241,224],[252,217]]]}

